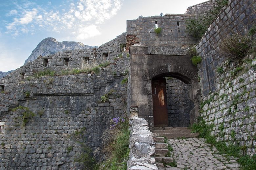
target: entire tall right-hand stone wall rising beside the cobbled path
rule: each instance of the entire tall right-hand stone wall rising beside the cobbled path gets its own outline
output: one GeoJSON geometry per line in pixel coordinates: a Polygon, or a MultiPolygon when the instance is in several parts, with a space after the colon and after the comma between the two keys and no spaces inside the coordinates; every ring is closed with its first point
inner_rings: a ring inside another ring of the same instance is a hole
{"type": "Polygon", "coordinates": [[[203,97],[201,116],[208,124],[214,124],[212,134],[218,140],[235,141],[251,155],[256,146],[255,52],[236,71],[238,66],[230,68],[216,49],[226,35],[248,33],[256,24],[255,7],[255,0],[229,1],[196,46],[202,56],[198,65],[203,97]],[[218,68],[223,68],[223,73],[218,73],[218,68]]]}

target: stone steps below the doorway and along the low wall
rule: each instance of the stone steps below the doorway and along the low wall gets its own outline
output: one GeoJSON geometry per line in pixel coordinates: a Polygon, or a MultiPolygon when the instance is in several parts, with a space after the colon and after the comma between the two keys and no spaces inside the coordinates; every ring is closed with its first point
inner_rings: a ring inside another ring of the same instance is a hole
{"type": "Polygon", "coordinates": [[[198,137],[199,133],[191,133],[187,127],[154,127],[155,140],[155,160],[160,170],[176,170],[173,166],[173,153],[168,149],[168,143],[164,143],[164,137],[172,138],[191,138],[198,137]]]}

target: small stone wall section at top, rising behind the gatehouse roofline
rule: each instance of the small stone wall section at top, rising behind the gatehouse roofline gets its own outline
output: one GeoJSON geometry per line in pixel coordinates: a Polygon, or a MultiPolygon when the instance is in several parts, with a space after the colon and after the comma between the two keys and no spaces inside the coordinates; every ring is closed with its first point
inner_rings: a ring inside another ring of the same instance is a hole
{"type": "Polygon", "coordinates": [[[216,0],[206,1],[200,4],[196,4],[187,8],[185,14],[191,15],[202,15],[207,12],[207,10],[211,10],[216,5],[216,0]]]}

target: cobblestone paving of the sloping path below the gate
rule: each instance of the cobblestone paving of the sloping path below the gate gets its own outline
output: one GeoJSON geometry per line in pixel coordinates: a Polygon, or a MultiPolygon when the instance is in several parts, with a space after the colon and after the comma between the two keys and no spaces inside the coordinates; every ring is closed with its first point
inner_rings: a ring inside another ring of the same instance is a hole
{"type": "Polygon", "coordinates": [[[190,170],[238,170],[237,158],[218,154],[215,147],[209,147],[203,138],[169,139],[173,147],[177,169],[190,170]]]}

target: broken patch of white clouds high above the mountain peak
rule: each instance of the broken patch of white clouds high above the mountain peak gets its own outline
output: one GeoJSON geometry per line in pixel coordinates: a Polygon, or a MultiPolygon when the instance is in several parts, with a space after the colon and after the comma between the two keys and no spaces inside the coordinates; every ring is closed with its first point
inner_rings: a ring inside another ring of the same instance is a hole
{"type": "Polygon", "coordinates": [[[121,1],[79,0],[77,3],[71,3],[67,10],[60,9],[60,11],[47,11],[37,7],[23,11],[21,16],[14,18],[6,28],[13,36],[20,33],[34,33],[36,27],[40,27],[50,32],[72,33],[78,40],[84,40],[100,34],[98,25],[117,14],[122,6],[121,1]]]}

